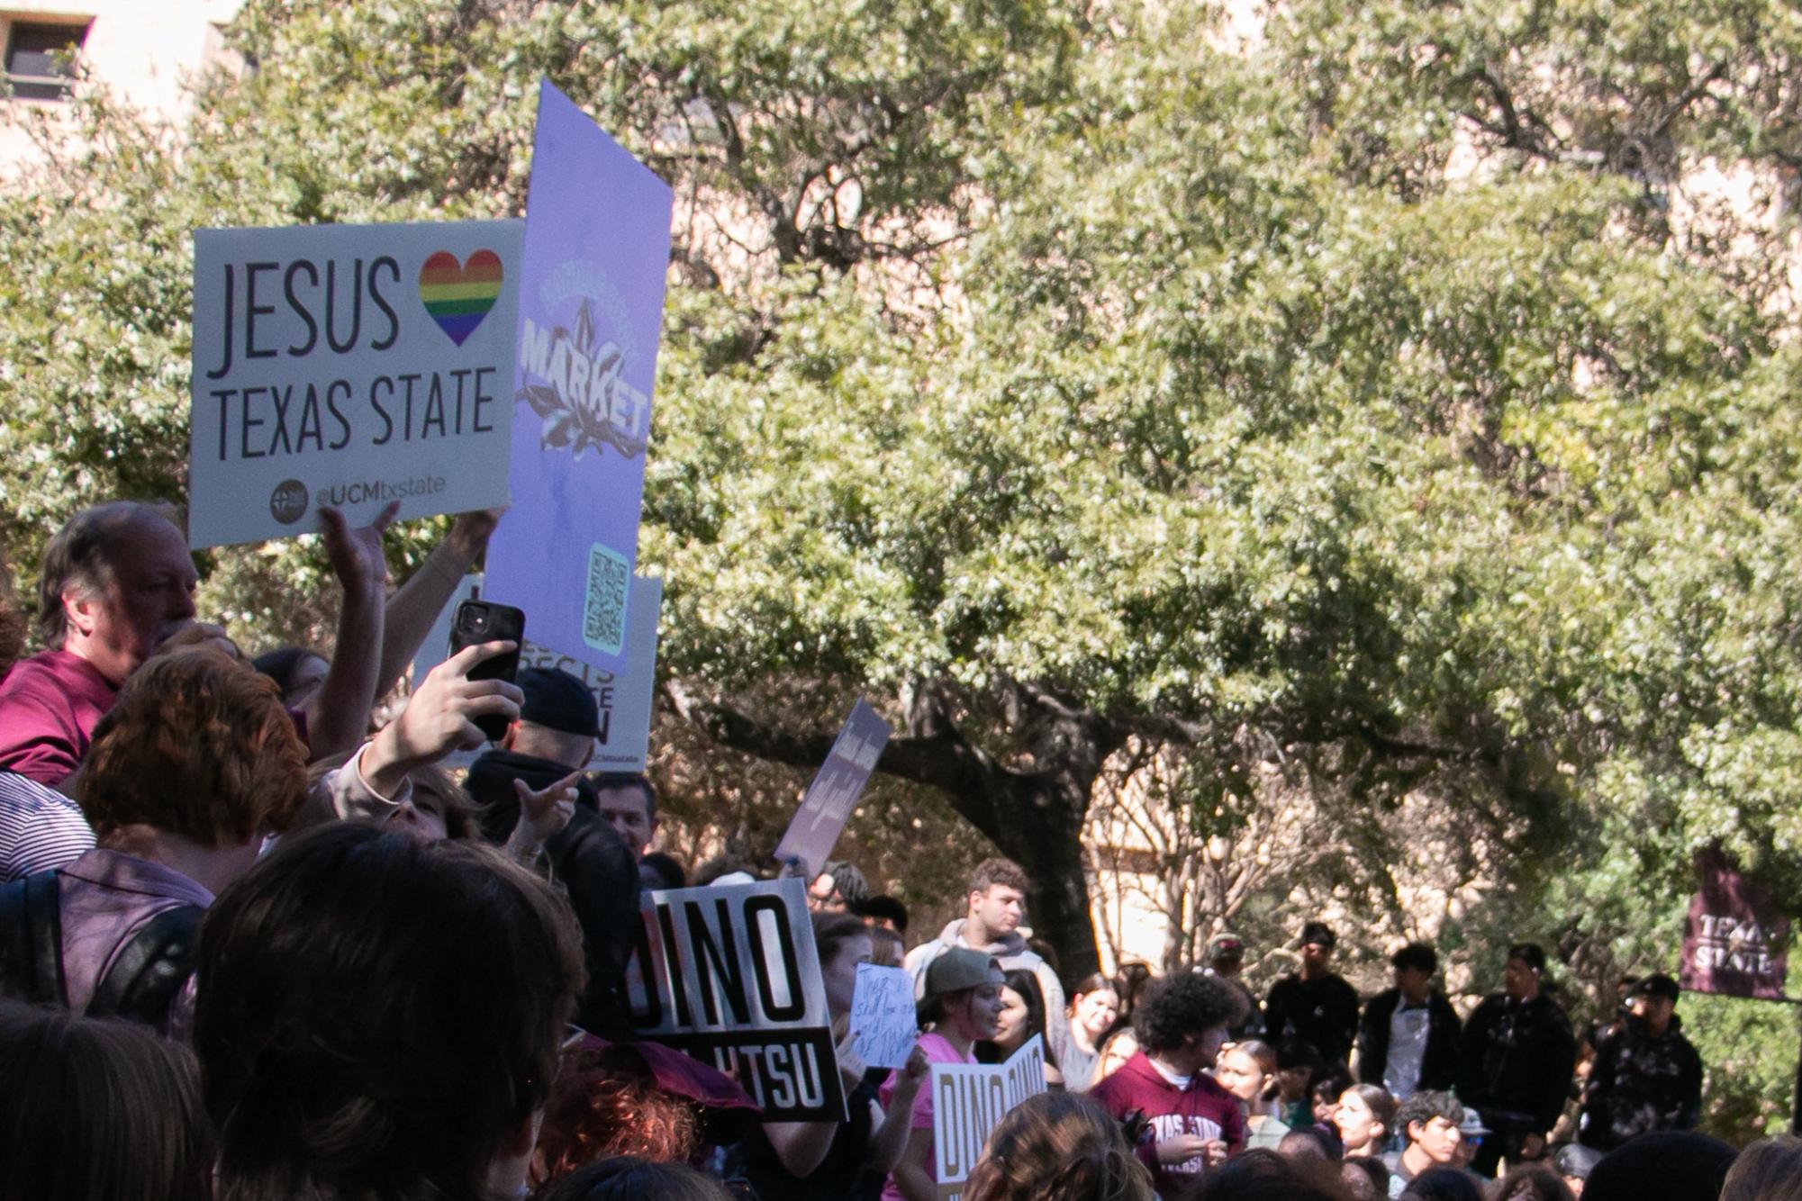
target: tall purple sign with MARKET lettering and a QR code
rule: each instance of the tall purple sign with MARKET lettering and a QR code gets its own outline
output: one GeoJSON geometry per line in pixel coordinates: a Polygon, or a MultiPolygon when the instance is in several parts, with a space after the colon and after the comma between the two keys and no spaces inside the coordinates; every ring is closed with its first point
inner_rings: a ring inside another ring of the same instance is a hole
{"type": "Polygon", "coordinates": [[[569,97],[539,85],[514,506],[488,542],[487,598],[524,609],[533,643],[613,673],[625,670],[670,200],[569,97]]]}

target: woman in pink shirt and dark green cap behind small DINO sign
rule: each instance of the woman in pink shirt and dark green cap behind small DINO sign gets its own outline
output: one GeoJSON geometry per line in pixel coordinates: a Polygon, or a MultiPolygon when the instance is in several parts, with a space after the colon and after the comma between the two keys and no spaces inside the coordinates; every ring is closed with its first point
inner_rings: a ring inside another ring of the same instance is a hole
{"type": "MultiPolygon", "coordinates": [[[[1002,1016],[1002,965],[968,947],[950,947],[926,967],[919,1001],[919,1050],[933,1064],[973,1064],[975,1044],[995,1037],[1002,1016]]],[[[899,1086],[890,1073],[881,1088],[887,1109],[899,1086]]],[[[932,1138],[932,1088],[914,1098],[906,1151],[883,1185],[883,1201],[937,1201],[939,1179],[932,1138]]]]}

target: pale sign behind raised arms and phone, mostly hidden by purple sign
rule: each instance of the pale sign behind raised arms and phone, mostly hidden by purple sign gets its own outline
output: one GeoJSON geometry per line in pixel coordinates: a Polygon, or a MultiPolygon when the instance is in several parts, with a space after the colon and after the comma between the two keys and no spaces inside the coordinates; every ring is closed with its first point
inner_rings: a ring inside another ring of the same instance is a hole
{"type": "MultiPolygon", "coordinates": [[[[450,621],[456,607],[481,596],[481,573],[463,576],[450,601],[432,621],[420,654],[413,657],[413,686],[445,661],[450,648],[450,621]]],[[[575,675],[595,693],[600,708],[600,729],[595,738],[595,771],[643,772],[651,753],[651,706],[656,699],[658,677],[658,616],[663,612],[663,580],[660,576],[633,576],[633,609],[625,628],[625,675],[614,675],[582,663],[530,637],[519,650],[521,668],[557,668],[575,675]]],[[[532,614],[526,614],[526,632],[532,632],[532,614]]],[[[474,762],[476,753],[460,753],[461,765],[474,762]]],[[[450,756],[456,763],[460,756],[450,756]]]]}

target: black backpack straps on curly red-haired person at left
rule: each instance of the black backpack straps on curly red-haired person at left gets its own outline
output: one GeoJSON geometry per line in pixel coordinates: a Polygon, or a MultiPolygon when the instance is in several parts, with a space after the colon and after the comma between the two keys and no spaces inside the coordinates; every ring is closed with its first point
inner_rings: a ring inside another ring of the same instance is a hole
{"type": "MultiPolygon", "coordinates": [[[[153,917],[114,958],[94,987],[90,1017],[126,1017],[168,1030],[169,1005],[195,974],[200,906],[153,917]]],[[[56,871],[0,886],[0,996],[29,1005],[68,1005],[63,978],[63,915],[56,871]]]]}

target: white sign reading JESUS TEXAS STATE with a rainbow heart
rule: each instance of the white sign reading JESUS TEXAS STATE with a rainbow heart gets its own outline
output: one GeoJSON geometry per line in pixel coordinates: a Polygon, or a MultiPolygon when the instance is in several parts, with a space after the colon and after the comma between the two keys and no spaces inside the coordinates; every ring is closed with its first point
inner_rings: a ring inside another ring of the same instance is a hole
{"type": "Polygon", "coordinates": [[[193,547],[508,502],[523,221],[195,230],[193,547]]]}

